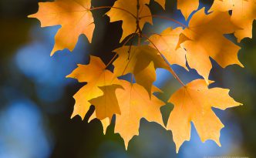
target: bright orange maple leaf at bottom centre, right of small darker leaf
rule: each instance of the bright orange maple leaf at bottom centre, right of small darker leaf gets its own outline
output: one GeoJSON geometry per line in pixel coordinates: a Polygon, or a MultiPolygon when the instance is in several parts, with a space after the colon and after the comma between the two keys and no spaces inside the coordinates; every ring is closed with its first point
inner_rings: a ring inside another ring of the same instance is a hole
{"type": "MultiPolygon", "coordinates": [[[[140,119],[145,118],[164,126],[160,107],[165,103],[153,94],[150,99],[143,86],[125,80],[121,82],[124,89],[116,89],[116,98],[122,114],[116,115],[115,133],[120,133],[127,149],[129,141],[139,134],[140,119]]],[[[153,86],[152,91],[160,90],[153,86]]]]}

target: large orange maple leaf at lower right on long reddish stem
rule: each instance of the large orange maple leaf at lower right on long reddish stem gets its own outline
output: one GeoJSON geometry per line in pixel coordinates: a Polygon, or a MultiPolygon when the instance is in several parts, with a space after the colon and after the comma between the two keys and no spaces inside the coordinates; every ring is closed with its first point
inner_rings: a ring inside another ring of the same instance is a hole
{"type": "Polygon", "coordinates": [[[194,123],[202,142],[214,140],[221,146],[219,138],[224,125],[211,107],[224,110],[240,106],[241,103],[235,102],[228,92],[229,89],[208,89],[203,79],[197,79],[170,97],[168,102],[173,103],[174,109],[170,113],[167,129],[173,133],[177,152],[185,140],[190,140],[190,122],[194,123]]]}

